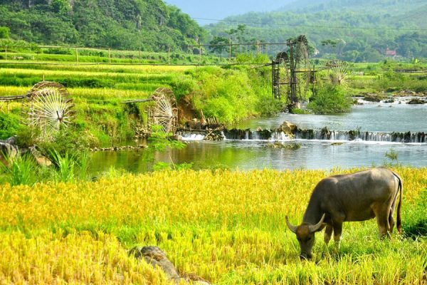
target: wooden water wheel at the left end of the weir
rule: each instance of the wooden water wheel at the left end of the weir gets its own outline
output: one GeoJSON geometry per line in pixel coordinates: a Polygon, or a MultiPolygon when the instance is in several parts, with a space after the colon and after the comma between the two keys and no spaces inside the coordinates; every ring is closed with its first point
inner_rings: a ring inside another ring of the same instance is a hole
{"type": "Polygon", "coordinates": [[[148,124],[161,125],[166,133],[175,133],[178,126],[176,98],[169,88],[157,88],[152,95],[154,105],[148,110],[148,124]]]}

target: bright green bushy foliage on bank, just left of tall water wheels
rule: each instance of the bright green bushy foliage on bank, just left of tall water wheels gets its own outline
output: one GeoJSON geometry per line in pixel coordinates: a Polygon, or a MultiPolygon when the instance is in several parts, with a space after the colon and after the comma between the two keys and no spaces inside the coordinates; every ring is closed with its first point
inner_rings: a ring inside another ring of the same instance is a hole
{"type": "Polygon", "coordinates": [[[193,93],[194,105],[208,118],[235,123],[256,115],[270,115],[280,110],[273,103],[270,73],[260,70],[199,68],[192,76],[199,82],[193,93]],[[267,103],[273,103],[267,105],[267,103]]]}

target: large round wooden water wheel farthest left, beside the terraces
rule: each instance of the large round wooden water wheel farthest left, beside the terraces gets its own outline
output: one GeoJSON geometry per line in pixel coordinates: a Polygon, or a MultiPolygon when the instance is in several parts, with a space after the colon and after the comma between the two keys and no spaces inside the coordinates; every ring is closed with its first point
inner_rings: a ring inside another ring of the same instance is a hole
{"type": "Polygon", "coordinates": [[[59,83],[42,81],[31,88],[22,105],[23,123],[50,138],[61,128],[68,128],[74,118],[70,94],[59,83]]]}

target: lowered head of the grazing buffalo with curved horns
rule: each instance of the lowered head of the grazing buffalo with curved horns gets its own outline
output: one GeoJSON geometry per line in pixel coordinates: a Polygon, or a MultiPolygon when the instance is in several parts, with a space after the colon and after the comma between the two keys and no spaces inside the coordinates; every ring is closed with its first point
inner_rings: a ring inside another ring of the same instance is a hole
{"type": "Polygon", "coordinates": [[[317,224],[306,224],[302,223],[299,226],[294,226],[289,222],[288,216],[286,216],[286,224],[288,224],[291,232],[297,235],[297,240],[300,243],[301,259],[311,259],[312,254],[311,250],[315,244],[315,232],[323,228],[323,220],[325,219],[325,214],[317,224]]]}

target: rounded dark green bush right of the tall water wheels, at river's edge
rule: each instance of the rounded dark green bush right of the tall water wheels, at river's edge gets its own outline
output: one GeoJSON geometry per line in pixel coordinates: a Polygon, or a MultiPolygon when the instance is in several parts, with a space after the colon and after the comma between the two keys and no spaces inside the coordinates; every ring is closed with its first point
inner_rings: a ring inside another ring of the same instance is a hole
{"type": "Polygon", "coordinates": [[[326,84],[312,96],[307,108],[316,114],[337,114],[350,111],[351,98],[341,86],[326,84]]]}

